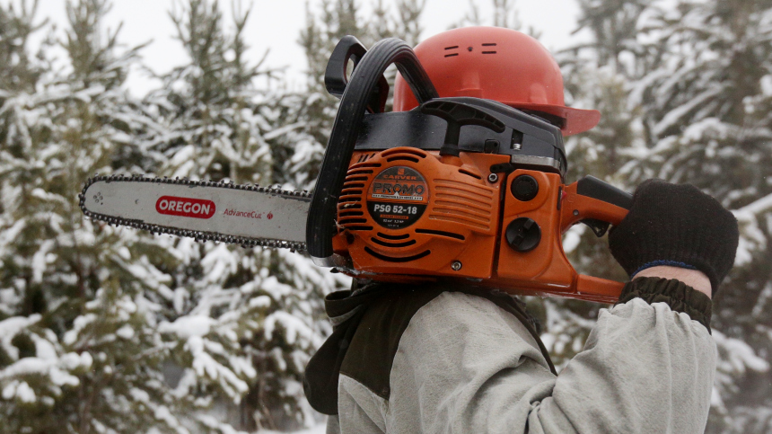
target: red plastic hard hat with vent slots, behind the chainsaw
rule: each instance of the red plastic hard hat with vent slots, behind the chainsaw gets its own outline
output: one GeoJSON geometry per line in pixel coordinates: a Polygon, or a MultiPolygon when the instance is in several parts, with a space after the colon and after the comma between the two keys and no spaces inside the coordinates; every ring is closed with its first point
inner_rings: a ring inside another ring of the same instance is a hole
{"type": "MultiPolygon", "coordinates": [[[[500,27],[443,31],[416,47],[416,54],[441,97],[473,96],[541,111],[564,120],[563,135],[598,124],[601,112],[566,107],[563,76],[538,40],[500,27]]],[[[401,75],[394,86],[394,111],[418,102],[401,75]]]]}

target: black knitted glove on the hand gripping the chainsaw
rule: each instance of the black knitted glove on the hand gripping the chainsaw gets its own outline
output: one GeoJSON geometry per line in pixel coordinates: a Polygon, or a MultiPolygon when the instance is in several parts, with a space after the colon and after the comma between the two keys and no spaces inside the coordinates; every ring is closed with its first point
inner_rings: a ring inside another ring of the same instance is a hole
{"type": "Polygon", "coordinates": [[[609,247],[631,278],[657,265],[700,270],[715,295],[732,269],[739,239],[737,219],[716,199],[693,185],[648,180],[611,230],[609,247]]]}

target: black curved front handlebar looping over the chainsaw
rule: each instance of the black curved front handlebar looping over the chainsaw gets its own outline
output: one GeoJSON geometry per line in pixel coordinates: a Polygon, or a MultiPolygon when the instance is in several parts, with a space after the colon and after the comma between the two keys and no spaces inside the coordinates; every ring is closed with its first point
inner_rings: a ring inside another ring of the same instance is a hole
{"type": "Polygon", "coordinates": [[[354,154],[364,111],[367,110],[383,71],[392,63],[397,65],[399,73],[410,85],[419,103],[439,97],[424,66],[421,66],[416,53],[404,40],[381,40],[359,61],[340,99],[306,221],[308,252],[317,265],[342,265],[332,249],[332,238],[336,234],[338,196],[346,180],[351,155],[354,154]]]}

